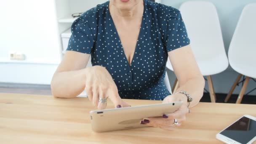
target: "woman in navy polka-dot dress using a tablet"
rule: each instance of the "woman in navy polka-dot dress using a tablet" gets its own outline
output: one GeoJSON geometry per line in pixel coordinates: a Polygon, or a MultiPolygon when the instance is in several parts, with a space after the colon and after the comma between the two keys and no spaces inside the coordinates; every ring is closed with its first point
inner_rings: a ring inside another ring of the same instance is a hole
{"type": "Polygon", "coordinates": [[[176,8],[148,0],[109,0],[83,13],[71,30],[51,82],[53,96],[72,98],[85,89],[98,109],[106,107],[107,98],[117,108],[130,106],[122,99],[184,101],[174,113],[141,121],[161,128],[181,125],[203,96],[205,81],[176,8]],[[85,68],[90,54],[93,67],[85,68]],[[180,85],[173,95],[163,83],[168,58],[180,85]]]}

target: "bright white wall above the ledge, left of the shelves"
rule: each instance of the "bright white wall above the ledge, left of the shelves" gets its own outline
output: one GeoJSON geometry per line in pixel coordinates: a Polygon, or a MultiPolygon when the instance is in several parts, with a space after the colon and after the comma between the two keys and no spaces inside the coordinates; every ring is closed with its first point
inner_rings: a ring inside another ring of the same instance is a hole
{"type": "MultiPolygon", "coordinates": [[[[5,0],[0,3],[0,58],[9,51],[26,61],[59,63],[59,40],[53,0],[5,0]]],[[[1,62],[1,61],[0,61],[1,62]]]]}

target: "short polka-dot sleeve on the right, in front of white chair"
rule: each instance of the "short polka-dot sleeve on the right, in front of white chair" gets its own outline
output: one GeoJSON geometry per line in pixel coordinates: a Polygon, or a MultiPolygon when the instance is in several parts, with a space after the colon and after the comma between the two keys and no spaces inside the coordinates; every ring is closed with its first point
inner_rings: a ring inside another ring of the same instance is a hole
{"type": "Polygon", "coordinates": [[[168,52],[190,44],[180,11],[176,9],[170,12],[165,39],[165,46],[168,52]]]}

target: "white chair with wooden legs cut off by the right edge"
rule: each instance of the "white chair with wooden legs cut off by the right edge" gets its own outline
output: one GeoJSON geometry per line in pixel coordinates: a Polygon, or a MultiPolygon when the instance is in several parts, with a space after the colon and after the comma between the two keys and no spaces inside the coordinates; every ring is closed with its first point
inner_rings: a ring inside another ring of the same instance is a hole
{"type": "Polygon", "coordinates": [[[238,21],[235,33],[229,45],[229,64],[240,73],[232,85],[225,102],[234,91],[242,75],[245,75],[243,87],[236,103],[241,103],[250,78],[256,78],[256,3],[248,4],[238,21]]]}

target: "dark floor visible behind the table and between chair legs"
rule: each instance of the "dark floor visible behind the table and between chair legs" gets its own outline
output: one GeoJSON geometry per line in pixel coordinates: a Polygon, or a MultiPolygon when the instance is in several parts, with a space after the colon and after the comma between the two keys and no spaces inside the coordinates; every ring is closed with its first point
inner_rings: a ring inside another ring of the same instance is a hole
{"type": "MultiPolygon", "coordinates": [[[[51,95],[51,88],[3,88],[0,87],[1,93],[24,93],[24,94],[42,94],[51,95]]],[[[224,103],[224,99],[227,94],[216,93],[216,99],[218,103],[224,103]]],[[[235,103],[238,95],[232,95],[228,103],[235,103]]],[[[209,93],[204,93],[201,102],[210,102],[209,93]]],[[[242,104],[256,104],[256,96],[244,96],[242,104]]]]}

